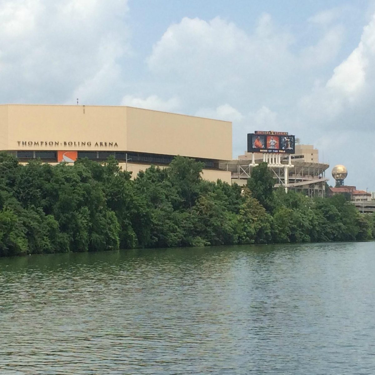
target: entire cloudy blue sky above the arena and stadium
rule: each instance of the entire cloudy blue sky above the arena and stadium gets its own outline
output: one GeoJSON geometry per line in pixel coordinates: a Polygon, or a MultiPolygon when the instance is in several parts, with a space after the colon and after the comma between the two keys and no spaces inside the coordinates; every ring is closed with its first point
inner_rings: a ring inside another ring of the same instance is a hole
{"type": "MultiPolygon", "coordinates": [[[[375,190],[374,1],[0,0],[0,102],[133,105],[282,130],[375,190]]],[[[332,179],[330,181],[333,183],[332,179]]]]}

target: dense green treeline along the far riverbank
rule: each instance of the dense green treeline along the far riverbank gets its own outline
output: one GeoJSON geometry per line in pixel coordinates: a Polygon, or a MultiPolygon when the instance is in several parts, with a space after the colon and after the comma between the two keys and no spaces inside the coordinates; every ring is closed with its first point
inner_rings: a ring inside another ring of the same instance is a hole
{"type": "Polygon", "coordinates": [[[202,163],[176,157],[135,180],[114,158],[103,165],[0,153],[0,255],[136,247],[369,240],[374,216],[343,196],[311,199],[273,188],[266,163],[247,187],[201,178],[202,163]]]}

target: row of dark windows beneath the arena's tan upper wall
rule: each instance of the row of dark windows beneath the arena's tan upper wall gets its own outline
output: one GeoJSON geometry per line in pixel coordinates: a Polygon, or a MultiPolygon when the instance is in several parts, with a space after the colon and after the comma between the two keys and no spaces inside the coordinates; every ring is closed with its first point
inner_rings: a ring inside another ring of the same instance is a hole
{"type": "MultiPolygon", "coordinates": [[[[118,151],[78,151],[78,159],[87,157],[88,159],[105,160],[113,155],[115,159],[121,161],[129,161],[133,163],[156,163],[156,164],[169,164],[174,156],[162,154],[148,154],[136,152],[118,152],[118,151]]],[[[17,151],[19,159],[48,159],[57,161],[57,151],[17,151]]],[[[204,163],[206,168],[219,168],[219,163],[210,159],[196,159],[204,163]]]]}

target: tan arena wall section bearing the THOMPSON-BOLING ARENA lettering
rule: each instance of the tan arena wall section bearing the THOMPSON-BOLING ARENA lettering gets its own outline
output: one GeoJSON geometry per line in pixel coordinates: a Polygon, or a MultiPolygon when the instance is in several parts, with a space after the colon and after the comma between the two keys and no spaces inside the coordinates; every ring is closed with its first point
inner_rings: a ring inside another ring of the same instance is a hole
{"type": "Polygon", "coordinates": [[[9,105],[7,107],[8,150],[126,150],[125,107],[78,105],[9,105]],[[23,141],[32,144],[22,145],[23,141]],[[39,142],[39,145],[34,142],[39,142]],[[58,145],[55,142],[58,142],[58,145]],[[72,142],[72,145],[69,145],[69,142],[72,142]],[[86,142],[86,145],[81,145],[81,142],[86,142]],[[91,146],[87,142],[91,142],[91,146]],[[97,146],[95,146],[96,142],[98,142],[97,146]],[[103,145],[100,145],[100,142],[103,145]],[[118,147],[109,146],[109,142],[113,144],[117,142],[118,147]]]}

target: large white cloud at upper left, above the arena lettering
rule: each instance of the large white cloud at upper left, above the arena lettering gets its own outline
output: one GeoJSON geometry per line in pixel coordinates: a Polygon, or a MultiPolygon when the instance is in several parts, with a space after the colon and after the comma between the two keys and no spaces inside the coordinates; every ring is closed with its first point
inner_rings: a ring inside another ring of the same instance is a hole
{"type": "MultiPolygon", "coordinates": [[[[130,53],[127,1],[3,0],[0,3],[1,102],[66,102],[74,91],[108,102],[130,53]],[[83,90],[109,65],[111,85],[83,90]],[[104,91],[107,87],[110,91],[104,91]]],[[[82,98],[83,101],[87,98],[82,98]]],[[[87,103],[90,104],[90,103],[87,103]]]]}

